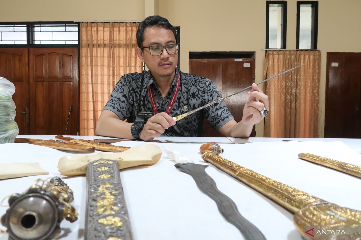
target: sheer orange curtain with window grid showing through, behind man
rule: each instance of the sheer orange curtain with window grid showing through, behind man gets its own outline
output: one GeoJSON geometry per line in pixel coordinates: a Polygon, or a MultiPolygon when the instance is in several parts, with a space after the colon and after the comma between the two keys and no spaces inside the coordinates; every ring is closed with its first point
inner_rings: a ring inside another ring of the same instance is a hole
{"type": "Polygon", "coordinates": [[[95,135],[101,110],[119,78],[142,72],[135,54],[139,23],[81,23],[80,135],[95,135]]]}

